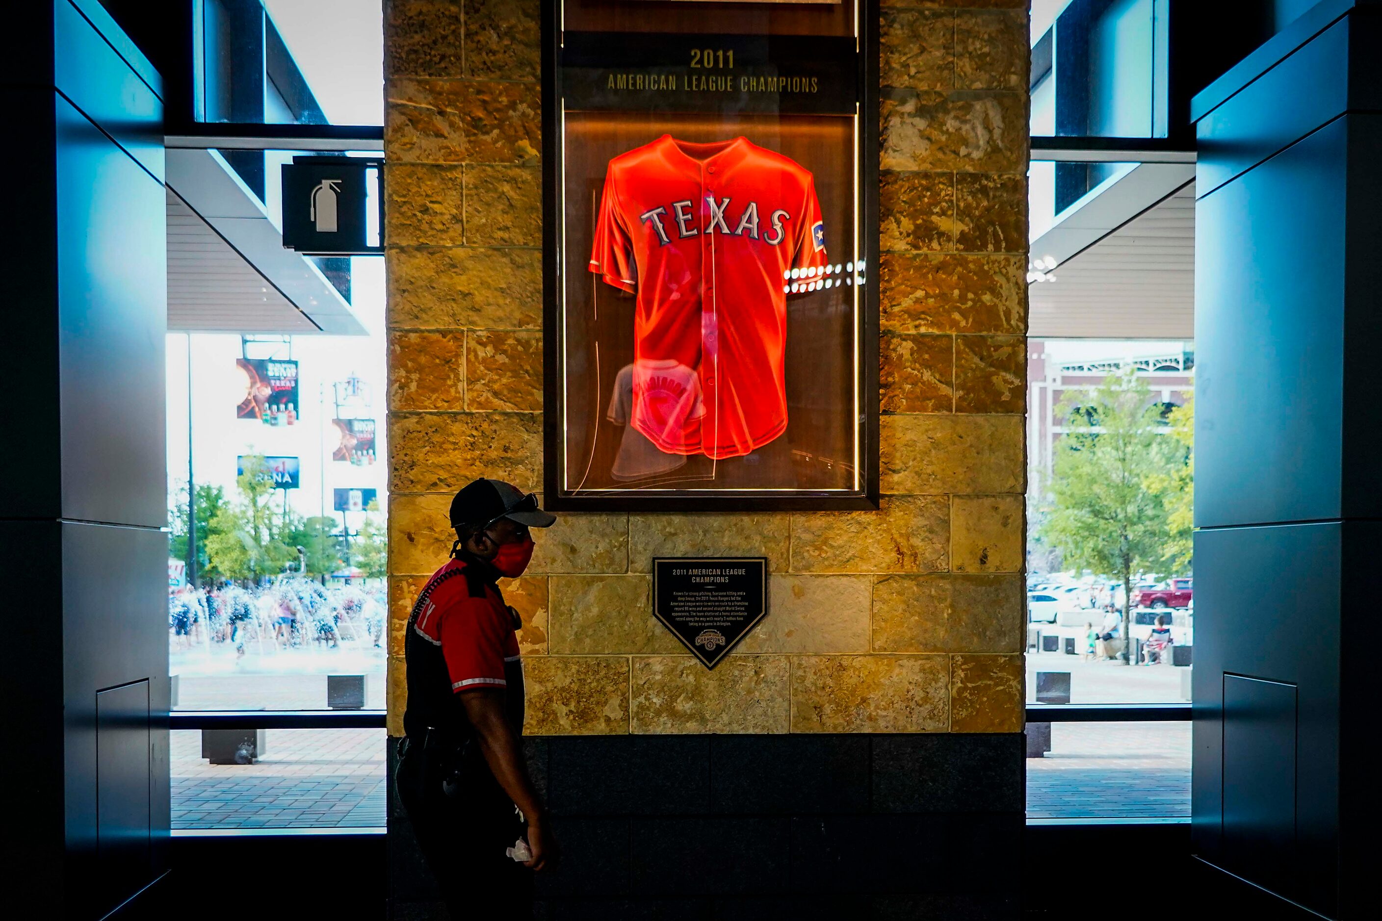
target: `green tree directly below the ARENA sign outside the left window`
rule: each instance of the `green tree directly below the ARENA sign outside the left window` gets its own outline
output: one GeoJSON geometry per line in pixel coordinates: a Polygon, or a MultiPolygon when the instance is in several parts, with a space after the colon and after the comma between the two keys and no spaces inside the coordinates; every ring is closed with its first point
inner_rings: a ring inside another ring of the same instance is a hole
{"type": "Polygon", "coordinates": [[[283,572],[297,550],[281,540],[289,515],[286,508],[274,508],[274,475],[263,454],[243,457],[235,490],[236,501],[211,518],[213,533],[206,539],[210,562],[225,579],[257,580],[283,572]]]}

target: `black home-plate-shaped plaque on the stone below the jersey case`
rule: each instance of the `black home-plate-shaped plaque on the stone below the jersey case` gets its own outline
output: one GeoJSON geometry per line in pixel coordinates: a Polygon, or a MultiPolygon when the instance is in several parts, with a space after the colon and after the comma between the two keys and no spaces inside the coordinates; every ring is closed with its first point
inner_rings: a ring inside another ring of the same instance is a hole
{"type": "Polygon", "coordinates": [[[764,556],[674,556],[652,561],[652,613],[706,668],[767,613],[764,556]]]}

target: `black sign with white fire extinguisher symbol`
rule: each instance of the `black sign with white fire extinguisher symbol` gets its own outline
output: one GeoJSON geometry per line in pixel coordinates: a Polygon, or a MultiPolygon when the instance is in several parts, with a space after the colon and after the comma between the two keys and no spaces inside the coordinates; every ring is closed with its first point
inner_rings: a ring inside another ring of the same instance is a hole
{"type": "Polygon", "coordinates": [[[297,156],[283,170],[283,249],[304,255],[384,251],[380,157],[297,156]]]}

